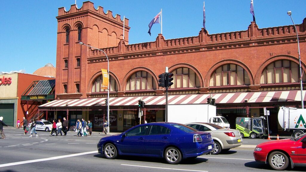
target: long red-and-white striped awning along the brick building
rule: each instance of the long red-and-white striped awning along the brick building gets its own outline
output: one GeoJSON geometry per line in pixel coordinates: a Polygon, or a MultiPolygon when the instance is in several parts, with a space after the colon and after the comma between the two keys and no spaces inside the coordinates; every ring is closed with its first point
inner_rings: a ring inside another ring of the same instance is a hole
{"type": "MultiPolygon", "coordinates": [[[[301,101],[301,92],[299,90],[290,91],[263,91],[248,93],[212,93],[212,98],[216,99],[217,104],[243,103],[248,99],[248,103],[264,102],[292,102],[301,101]]],[[[305,101],[303,91],[303,100],[305,101]]],[[[211,94],[187,94],[187,95],[169,95],[168,104],[206,104],[207,98],[211,94]]],[[[48,102],[39,107],[89,107],[105,106],[106,98],[86,98],[86,99],[61,99],[48,102]]],[[[136,97],[110,97],[110,106],[128,106],[138,105],[142,99],[146,105],[164,105],[166,96],[136,96],[136,97]]]]}

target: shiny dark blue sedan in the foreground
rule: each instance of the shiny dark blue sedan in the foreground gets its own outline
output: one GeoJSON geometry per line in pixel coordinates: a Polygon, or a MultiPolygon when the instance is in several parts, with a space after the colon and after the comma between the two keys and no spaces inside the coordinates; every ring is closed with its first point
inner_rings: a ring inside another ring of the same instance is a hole
{"type": "Polygon", "coordinates": [[[97,147],[107,159],[115,159],[118,155],[148,156],[178,164],[181,159],[210,153],[214,141],[208,132],[184,124],[162,122],[140,124],[122,134],[103,137],[97,147]]]}

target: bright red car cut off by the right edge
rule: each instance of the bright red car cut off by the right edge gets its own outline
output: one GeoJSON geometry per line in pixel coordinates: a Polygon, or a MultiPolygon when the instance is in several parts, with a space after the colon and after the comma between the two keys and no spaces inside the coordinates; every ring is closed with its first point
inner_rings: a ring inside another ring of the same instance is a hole
{"type": "Polygon", "coordinates": [[[285,170],[289,164],[306,166],[306,133],[290,139],[268,141],[256,146],[254,158],[268,163],[274,170],[285,170]]]}

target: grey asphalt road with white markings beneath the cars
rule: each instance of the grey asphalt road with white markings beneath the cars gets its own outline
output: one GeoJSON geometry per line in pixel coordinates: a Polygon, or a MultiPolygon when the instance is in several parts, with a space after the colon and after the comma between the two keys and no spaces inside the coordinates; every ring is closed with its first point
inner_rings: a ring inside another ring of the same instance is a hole
{"type": "MultiPolygon", "coordinates": [[[[97,153],[97,142],[104,134],[95,132],[88,137],[49,136],[39,131],[38,138],[23,135],[23,130],[5,128],[6,139],[0,139],[1,172],[175,172],[175,171],[274,171],[265,164],[257,163],[253,150],[264,139],[243,139],[241,147],[220,155],[204,155],[192,160],[183,160],[178,165],[165,163],[163,159],[121,156],[105,159],[97,153]]],[[[34,135],[33,135],[34,136],[34,135]]],[[[304,171],[295,167],[291,171],[304,171]]]]}

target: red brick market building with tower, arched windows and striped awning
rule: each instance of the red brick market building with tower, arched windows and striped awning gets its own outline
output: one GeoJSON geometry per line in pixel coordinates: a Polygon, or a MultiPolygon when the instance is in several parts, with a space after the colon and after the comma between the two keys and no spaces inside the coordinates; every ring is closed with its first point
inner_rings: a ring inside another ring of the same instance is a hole
{"type": "MultiPolygon", "coordinates": [[[[100,129],[106,90],[101,90],[101,68],[110,67],[110,130],[126,130],[139,123],[138,100],[146,101],[149,122],[165,120],[165,89],[158,75],[174,73],[169,104],[203,104],[212,94],[217,112],[234,128],[238,116],[261,116],[270,110],[274,133],[280,132],[278,107],[300,107],[299,59],[293,25],[259,28],[254,22],[244,31],[166,39],[129,45],[129,20],[113,17],[103,8],[84,2],[80,9],[58,10],[56,99],[40,110],[56,111],[69,119],[94,120],[100,129]],[[137,122],[138,121],[138,122],[137,122]]],[[[306,18],[297,24],[302,68],[306,61],[306,18]]],[[[302,77],[306,81],[305,75],[302,77]]],[[[305,89],[305,86],[304,86],[305,89]]],[[[304,91],[303,91],[304,92],[304,91]]],[[[305,92],[303,93],[305,95],[305,92]]],[[[305,96],[304,100],[305,101],[305,96]]],[[[182,114],[180,114],[182,115],[182,114]]],[[[188,118],[188,114],[186,118],[188,118]]],[[[269,121],[269,122],[270,122],[269,121]]],[[[70,122],[73,124],[72,122],[70,122]]]]}

